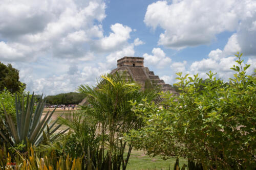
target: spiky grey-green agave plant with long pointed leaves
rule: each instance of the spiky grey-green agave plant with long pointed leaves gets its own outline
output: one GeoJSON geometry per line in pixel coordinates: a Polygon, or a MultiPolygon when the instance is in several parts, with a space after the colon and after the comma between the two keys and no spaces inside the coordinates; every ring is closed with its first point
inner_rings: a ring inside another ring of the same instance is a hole
{"type": "MultiPolygon", "coordinates": [[[[16,125],[14,120],[11,118],[11,115],[7,113],[6,108],[3,105],[5,116],[6,116],[6,126],[9,131],[9,136],[5,136],[4,133],[0,131],[0,135],[3,139],[9,142],[8,138],[10,137],[11,142],[14,145],[24,142],[25,144],[30,142],[32,145],[38,145],[38,143],[44,139],[43,134],[52,135],[56,130],[61,126],[58,125],[54,127],[57,120],[50,125],[51,116],[54,113],[55,109],[50,113],[50,110],[47,114],[42,118],[42,112],[44,111],[44,107],[46,104],[46,99],[39,99],[38,103],[35,106],[35,97],[34,93],[31,98],[29,95],[27,96],[27,104],[26,108],[24,106],[24,97],[22,100],[20,98],[17,99],[15,96],[15,105],[16,105],[16,125]],[[49,114],[50,113],[50,114],[49,114]]],[[[65,133],[65,131],[58,132],[57,134],[65,133]]]]}

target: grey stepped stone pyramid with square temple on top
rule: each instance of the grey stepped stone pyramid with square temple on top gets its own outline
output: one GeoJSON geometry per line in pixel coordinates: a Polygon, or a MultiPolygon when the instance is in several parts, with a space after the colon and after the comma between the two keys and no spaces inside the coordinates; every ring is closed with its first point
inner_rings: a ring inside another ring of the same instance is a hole
{"type": "Polygon", "coordinates": [[[170,91],[177,94],[172,86],[159,79],[159,76],[156,76],[154,71],[144,67],[144,58],[142,57],[123,57],[117,60],[117,68],[113,69],[111,74],[114,74],[116,71],[119,73],[125,72],[125,74],[130,75],[135,82],[142,85],[142,88],[145,82],[150,80],[160,85],[163,91],[170,91]]]}

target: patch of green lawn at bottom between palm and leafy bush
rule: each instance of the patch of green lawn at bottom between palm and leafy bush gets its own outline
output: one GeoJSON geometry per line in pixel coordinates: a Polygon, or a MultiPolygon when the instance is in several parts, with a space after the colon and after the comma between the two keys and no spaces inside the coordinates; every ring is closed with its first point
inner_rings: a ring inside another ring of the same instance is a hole
{"type": "MultiPolygon", "coordinates": [[[[125,155],[126,157],[126,155],[125,155]]],[[[142,169],[173,169],[176,158],[163,160],[160,156],[150,157],[144,154],[143,151],[133,150],[127,165],[127,170],[142,170],[142,169]]],[[[187,160],[180,158],[180,166],[187,164],[187,160]]]]}

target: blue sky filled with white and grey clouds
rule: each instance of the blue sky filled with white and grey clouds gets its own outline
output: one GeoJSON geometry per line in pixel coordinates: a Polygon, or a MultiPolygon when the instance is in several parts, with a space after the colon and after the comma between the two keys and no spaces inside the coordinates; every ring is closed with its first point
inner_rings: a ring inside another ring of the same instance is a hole
{"type": "Polygon", "coordinates": [[[124,56],[169,84],[179,71],[228,81],[237,52],[256,68],[255,0],[0,1],[0,61],[36,94],[95,86],[124,56]]]}

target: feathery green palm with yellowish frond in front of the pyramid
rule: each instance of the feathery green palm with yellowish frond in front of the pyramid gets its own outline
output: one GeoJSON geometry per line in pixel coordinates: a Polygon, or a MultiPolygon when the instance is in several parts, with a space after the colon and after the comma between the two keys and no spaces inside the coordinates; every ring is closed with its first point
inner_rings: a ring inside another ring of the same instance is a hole
{"type": "Polygon", "coordinates": [[[142,126],[142,121],[131,110],[130,101],[141,102],[145,99],[152,102],[158,98],[159,88],[147,82],[145,89],[133,80],[118,74],[102,76],[97,88],[81,85],[79,92],[87,95],[87,105],[82,109],[86,115],[97,120],[99,133],[102,134],[100,151],[101,163],[95,165],[98,169],[125,169],[133,145],[129,144],[128,154],[123,158],[126,141],[123,134],[142,126]],[[104,153],[104,151],[106,151],[104,153]]]}

